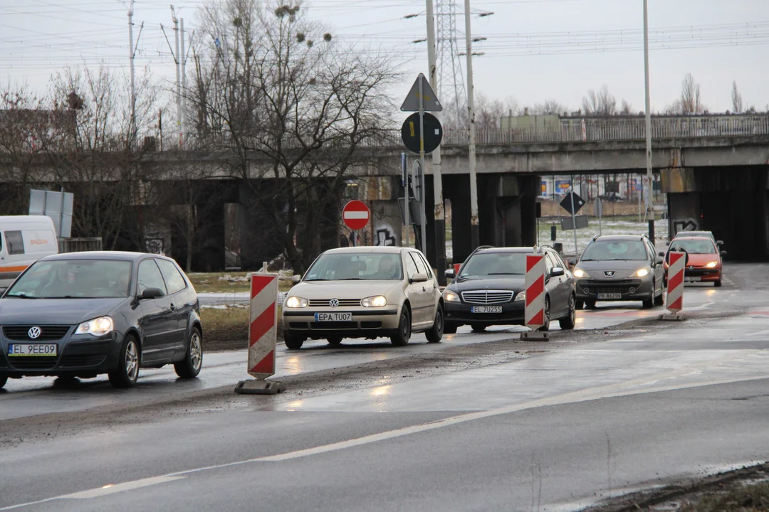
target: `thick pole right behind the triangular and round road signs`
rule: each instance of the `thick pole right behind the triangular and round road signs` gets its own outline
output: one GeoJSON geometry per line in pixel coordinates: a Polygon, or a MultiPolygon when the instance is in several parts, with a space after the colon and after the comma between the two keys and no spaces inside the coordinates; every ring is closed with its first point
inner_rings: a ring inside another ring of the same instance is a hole
{"type": "MultiPolygon", "coordinates": [[[[433,12],[433,0],[425,0],[427,4],[428,24],[428,68],[430,85],[435,94],[438,94],[438,74],[435,64],[435,15],[433,12]]],[[[443,209],[443,177],[441,175],[441,147],[438,146],[432,152],[433,171],[433,197],[434,197],[434,229],[435,229],[435,267],[438,270],[438,283],[446,284],[446,219],[443,209]]],[[[422,173],[426,169],[422,168],[422,173]]],[[[424,190],[422,190],[424,193],[424,190]]],[[[425,194],[426,195],[426,194],[425,194]]],[[[423,199],[424,200],[424,199],[423,199]]],[[[425,219],[425,222],[427,220],[425,219]]],[[[424,247],[427,244],[424,243],[424,247]]]]}

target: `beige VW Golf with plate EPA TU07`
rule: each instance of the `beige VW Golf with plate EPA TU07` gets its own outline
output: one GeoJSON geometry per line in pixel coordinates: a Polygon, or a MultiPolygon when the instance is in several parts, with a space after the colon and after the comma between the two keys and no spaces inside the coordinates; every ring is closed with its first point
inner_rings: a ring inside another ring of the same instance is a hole
{"type": "Polygon", "coordinates": [[[305,339],[387,336],[406,345],[414,332],[428,342],[443,336],[443,299],[422,253],[403,247],[345,247],[318,256],[288,292],[283,337],[288,348],[305,339]]]}

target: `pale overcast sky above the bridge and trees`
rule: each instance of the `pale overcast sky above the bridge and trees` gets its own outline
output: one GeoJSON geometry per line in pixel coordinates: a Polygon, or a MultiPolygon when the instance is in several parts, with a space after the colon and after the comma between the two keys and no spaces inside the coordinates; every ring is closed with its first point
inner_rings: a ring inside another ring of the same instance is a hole
{"type": "MultiPolygon", "coordinates": [[[[456,16],[464,50],[464,8],[456,16]]],[[[42,90],[66,65],[128,70],[128,25],[122,0],[0,0],[0,78],[27,82],[42,90]]],[[[179,0],[188,35],[198,5],[179,0]]],[[[681,90],[684,74],[701,84],[710,111],[731,109],[737,81],[747,105],[769,104],[769,0],[648,0],[651,41],[651,105],[661,111],[681,90]]],[[[576,110],[591,88],[608,85],[634,111],[644,106],[642,0],[474,0],[472,34],[487,38],[474,45],[476,93],[519,105],[557,100],[576,110]],[[493,15],[479,16],[483,12],[493,15]]],[[[398,100],[419,72],[427,72],[427,48],[412,41],[426,34],[424,2],[407,0],[315,0],[311,18],[336,37],[361,48],[388,49],[404,61],[407,77],[393,91],[398,100]],[[404,18],[407,15],[418,15],[404,18]]],[[[160,78],[173,77],[173,61],[160,24],[172,41],[168,2],[135,2],[137,67],[160,78]]],[[[464,57],[461,57],[464,71],[464,57]]],[[[446,97],[442,98],[446,101],[446,97]]]]}

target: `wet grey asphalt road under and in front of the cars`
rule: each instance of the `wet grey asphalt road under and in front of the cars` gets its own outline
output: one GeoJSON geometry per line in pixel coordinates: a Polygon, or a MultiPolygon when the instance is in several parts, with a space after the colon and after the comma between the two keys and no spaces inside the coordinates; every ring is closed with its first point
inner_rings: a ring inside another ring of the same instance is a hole
{"type": "MultiPolygon", "coordinates": [[[[542,344],[540,354],[482,368],[238,397],[221,408],[209,401],[8,443],[0,510],[578,510],[682,474],[766,461],[766,268],[735,265],[722,289],[687,287],[696,319],[669,329],[598,331],[594,340],[542,344]]],[[[580,312],[580,325],[602,329],[659,312],[605,307],[580,312]]],[[[402,350],[371,342],[281,348],[278,375],[505,338],[509,331],[402,350]]],[[[165,369],[144,372],[127,393],[103,380],[67,390],[50,379],[15,382],[0,394],[0,430],[3,420],[46,411],[76,417],[233,385],[244,376],[241,356],[208,355],[194,383],[175,382],[165,369]]]]}

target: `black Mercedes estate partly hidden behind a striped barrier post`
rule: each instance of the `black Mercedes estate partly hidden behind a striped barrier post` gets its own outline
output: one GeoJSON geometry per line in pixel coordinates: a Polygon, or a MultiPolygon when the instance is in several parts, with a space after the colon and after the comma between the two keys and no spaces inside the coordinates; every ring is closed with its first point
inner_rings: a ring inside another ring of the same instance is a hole
{"type": "Polygon", "coordinates": [[[541,247],[481,247],[465,260],[444,290],[447,333],[460,325],[481,332],[490,325],[523,325],[526,255],[538,250],[545,256],[545,322],[550,329],[558,320],[561,329],[574,329],[576,297],[574,279],[553,249],[541,247]]]}

